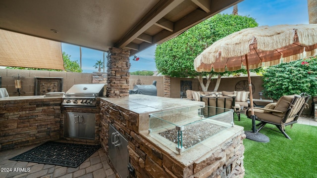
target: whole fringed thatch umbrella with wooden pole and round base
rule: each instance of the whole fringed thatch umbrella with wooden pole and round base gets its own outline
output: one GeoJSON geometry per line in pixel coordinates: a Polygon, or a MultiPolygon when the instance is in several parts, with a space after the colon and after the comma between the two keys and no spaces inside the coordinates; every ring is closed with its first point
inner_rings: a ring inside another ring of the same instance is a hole
{"type": "Polygon", "coordinates": [[[256,132],[249,69],[316,54],[317,24],[261,26],[243,29],[213,43],[196,57],[194,67],[198,72],[236,71],[242,67],[247,69],[253,131],[246,132],[246,135],[247,138],[267,142],[265,135],[256,132]]]}

